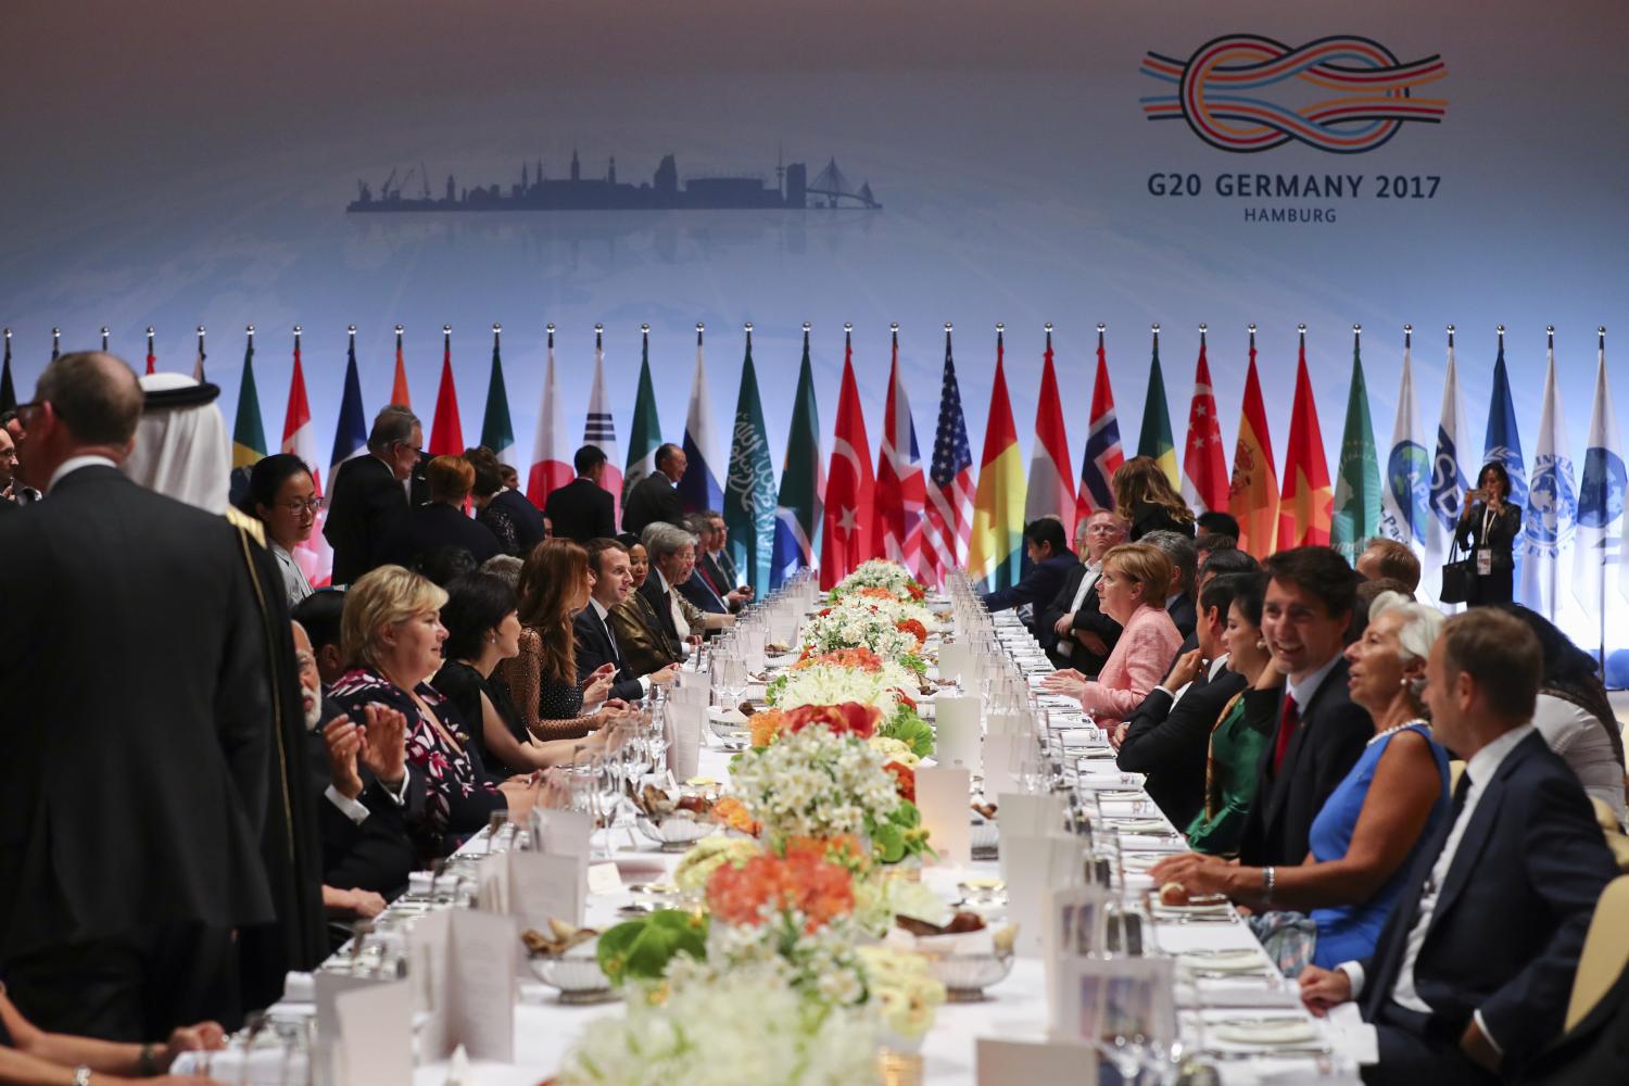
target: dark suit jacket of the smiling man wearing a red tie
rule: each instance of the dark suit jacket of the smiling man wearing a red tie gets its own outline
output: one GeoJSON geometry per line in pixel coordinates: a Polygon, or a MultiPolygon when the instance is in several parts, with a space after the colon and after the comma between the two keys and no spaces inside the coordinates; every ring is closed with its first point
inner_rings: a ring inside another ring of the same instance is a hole
{"type": "Polygon", "coordinates": [[[1368,712],[1352,703],[1346,689],[1347,663],[1336,661],[1318,684],[1311,702],[1302,707],[1302,723],[1284,752],[1284,765],[1272,772],[1272,751],[1284,725],[1282,687],[1246,690],[1245,720],[1271,736],[1262,747],[1256,803],[1245,817],[1240,863],[1253,868],[1290,865],[1306,860],[1306,839],[1324,799],[1350,772],[1375,738],[1368,712]]]}

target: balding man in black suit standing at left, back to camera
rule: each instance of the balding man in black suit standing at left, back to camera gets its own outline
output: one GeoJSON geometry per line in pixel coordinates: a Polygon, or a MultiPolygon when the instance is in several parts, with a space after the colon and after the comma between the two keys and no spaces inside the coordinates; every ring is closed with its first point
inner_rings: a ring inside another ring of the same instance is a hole
{"type": "Polygon", "coordinates": [[[112,355],[52,361],[18,449],[50,500],[0,521],[0,961],[109,1040],[230,1027],[233,931],[274,920],[266,632],[238,532],[119,472],[142,401],[112,355]]]}

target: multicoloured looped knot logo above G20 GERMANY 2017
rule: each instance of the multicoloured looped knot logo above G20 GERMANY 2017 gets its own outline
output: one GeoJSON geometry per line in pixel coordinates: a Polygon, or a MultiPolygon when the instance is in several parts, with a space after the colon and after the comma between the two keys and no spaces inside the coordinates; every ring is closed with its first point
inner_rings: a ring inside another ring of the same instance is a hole
{"type": "Polygon", "coordinates": [[[1175,94],[1140,99],[1148,120],[1183,119],[1210,147],[1241,155],[1290,140],[1357,155],[1390,140],[1404,122],[1440,124],[1448,112],[1443,98],[1414,96],[1414,88],[1448,73],[1438,54],[1401,63],[1380,42],[1352,34],[1298,49],[1259,34],[1227,34],[1186,62],[1148,52],[1142,73],[1176,86],[1175,94]],[[1280,85],[1321,101],[1290,107],[1262,98],[1280,85]]]}

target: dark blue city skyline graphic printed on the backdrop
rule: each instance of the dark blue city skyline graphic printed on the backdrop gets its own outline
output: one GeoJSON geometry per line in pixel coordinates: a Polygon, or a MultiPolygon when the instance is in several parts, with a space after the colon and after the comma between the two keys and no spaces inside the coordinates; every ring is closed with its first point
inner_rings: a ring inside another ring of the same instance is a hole
{"type": "Polygon", "coordinates": [[[862,210],[880,212],[883,205],[872,194],[872,182],[855,187],[837,166],[836,158],[810,181],[803,163],[775,163],[775,184],[756,176],[700,176],[679,181],[678,160],[663,155],[655,176],[640,184],[617,181],[613,155],[601,177],[585,177],[582,160],[572,151],[570,173],[549,177],[542,160],[523,161],[520,181],[508,189],[492,182],[459,187],[453,174],[440,197],[432,195],[430,169],[424,163],[409,166],[397,181],[397,169],[380,184],[378,195],[367,181],[357,181],[357,199],[347,212],[656,212],[656,210],[862,210]],[[406,197],[406,189],[419,181],[419,195],[406,197]]]}

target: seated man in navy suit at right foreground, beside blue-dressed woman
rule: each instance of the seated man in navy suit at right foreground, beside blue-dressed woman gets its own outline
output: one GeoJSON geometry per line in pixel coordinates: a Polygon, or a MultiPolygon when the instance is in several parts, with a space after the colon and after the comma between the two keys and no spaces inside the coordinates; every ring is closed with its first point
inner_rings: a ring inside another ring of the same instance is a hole
{"type": "Polygon", "coordinates": [[[1300,977],[1315,1013],[1359,1000],[1380,1042],[1367,1083],[1497,1083],[1561,1032],[1618,869],[1579,778],[1528,723],[1541,664],[1531,628],[1491,607],[1448,619],[1432,646],[1432,734],[1466,760],[1453,817],[1420,848],[1373,956],[1300,977]]]}

